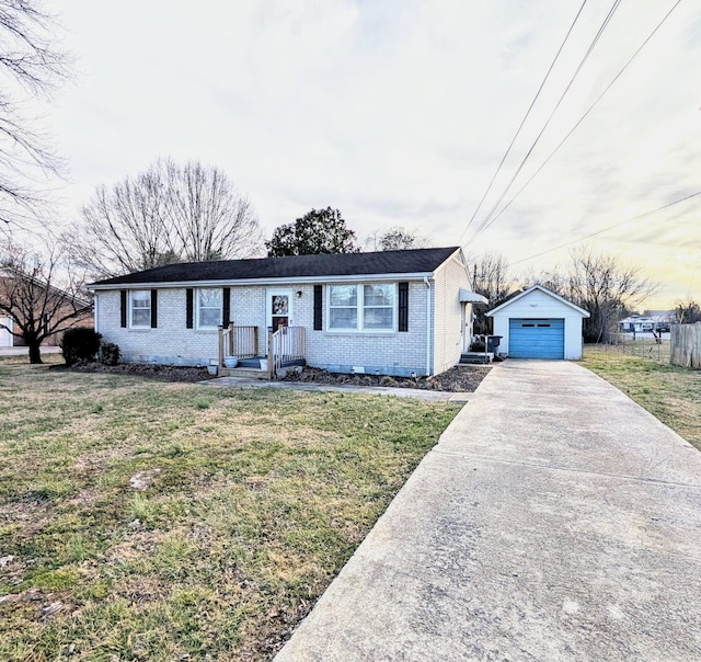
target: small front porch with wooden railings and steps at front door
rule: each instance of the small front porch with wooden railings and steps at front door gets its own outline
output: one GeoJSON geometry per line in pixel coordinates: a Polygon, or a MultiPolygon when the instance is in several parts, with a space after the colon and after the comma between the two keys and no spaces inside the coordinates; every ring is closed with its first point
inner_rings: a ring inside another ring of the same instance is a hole
{"type": "Polygon", "coordinates": [[[260,331],[254,326],[219,327],[218,374],[222,377],[275,379],[288,367],[304,366],[304,328],[268,328],[266,352],[260,352],[260,331]],[[234,361],[235,359],[235,361],[234,361]]]}

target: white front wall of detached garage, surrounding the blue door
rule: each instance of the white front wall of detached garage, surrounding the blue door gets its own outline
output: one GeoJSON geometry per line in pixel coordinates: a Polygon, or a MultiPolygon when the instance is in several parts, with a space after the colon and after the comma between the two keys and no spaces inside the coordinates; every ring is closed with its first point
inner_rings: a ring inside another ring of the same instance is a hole
{"type": "Polygon", "coordinates": [[[494,319],[494,334],[501,335],[499,353],[508,353],[509,319],[548,319],[560,318],[565,320],[565,346],[564,357],[567,361],[579,361],[582,358],[582,315],[551,297],[544,292],[533,290],[530,294],[506,306],[496,312],[494,319]]]}

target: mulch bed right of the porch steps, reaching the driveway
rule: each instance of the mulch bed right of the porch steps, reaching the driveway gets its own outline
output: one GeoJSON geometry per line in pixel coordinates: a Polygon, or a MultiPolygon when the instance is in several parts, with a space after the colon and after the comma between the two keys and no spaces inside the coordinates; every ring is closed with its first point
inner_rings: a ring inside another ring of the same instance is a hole
{"type": "Polygon", "coordinates": [[[320,368],[306,367],[301,373],[290,373],[285,381],[313,384],[345,384],[350,386],[384,386],[390,388],[420,388],[434,391],[473,392],[491,367],[458,365],[434,377],[389,377],[388,375],[342,375],[320,368]]]}

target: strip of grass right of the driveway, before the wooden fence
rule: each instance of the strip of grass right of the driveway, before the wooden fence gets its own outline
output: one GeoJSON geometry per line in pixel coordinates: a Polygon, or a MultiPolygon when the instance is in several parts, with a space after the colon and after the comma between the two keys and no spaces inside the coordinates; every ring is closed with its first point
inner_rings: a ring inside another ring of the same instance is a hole
{"type": "Polygon", "coordinates": [[[594,345],[583,365],[701,449],[701,372],[594,345]]]}

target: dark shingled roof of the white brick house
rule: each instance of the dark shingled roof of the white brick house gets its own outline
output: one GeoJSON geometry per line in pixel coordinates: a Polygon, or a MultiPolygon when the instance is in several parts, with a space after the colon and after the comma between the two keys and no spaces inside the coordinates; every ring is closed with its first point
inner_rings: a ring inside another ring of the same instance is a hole
{"type": "Polygon", "coordinates": [[[92,285],[430,273],[457,250],[459,250],[458,247],[448,247],[377,253],[333,253],[257,260],[185,262],[106,278],[92,285]]]}

